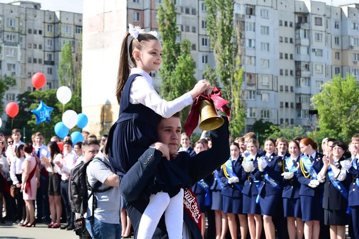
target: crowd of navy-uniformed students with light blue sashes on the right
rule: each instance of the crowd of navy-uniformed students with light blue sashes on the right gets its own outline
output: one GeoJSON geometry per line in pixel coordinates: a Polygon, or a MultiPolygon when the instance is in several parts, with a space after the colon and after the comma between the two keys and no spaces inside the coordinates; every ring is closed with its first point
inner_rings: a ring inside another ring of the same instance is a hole
{"type": "MultiPolygon", "coordinates": [[[[210,148],[201,138],[192,149],[183,133],[181,150],[210,148]]],[[[348,146],[323,139],[322,153],[311,138],[269,138],[263,146],[254,133],[236,138],[228,161],[192,187],[206,237],[223,239],[229,230],[232,239],[336,239],[346,238],[349,225],[359,238],[359,134],[348,146]]]]}

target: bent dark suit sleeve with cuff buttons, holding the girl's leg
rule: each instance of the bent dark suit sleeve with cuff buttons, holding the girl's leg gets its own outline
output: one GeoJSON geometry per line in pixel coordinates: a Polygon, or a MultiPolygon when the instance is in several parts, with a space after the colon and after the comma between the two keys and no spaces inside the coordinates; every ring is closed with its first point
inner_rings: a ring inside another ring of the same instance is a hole
{"type": "Polygon", "coordinates": [[[137,200],[147,182],[154,175],[157,164],[162,158],[162,152],[155,148],[148,148],[130,168],[120,181],[121,195],[125,201],[137,200]]]}

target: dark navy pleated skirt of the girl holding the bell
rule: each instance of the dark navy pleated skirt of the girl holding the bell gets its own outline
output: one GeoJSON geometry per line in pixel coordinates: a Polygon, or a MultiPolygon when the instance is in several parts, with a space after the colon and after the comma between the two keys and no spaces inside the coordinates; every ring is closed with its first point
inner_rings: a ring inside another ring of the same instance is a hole
{"type": "MultiPolygon", "coordinates": [[[[116,122],[109,131],[108,156],[113,172],[123,175],[138,161],[148,147],[158,141],[157,128],[137,119],[116,122]]],[[[142,194],[163,191],[170,197],[176,196],[181,188],[190,187],[191,179],[182,169],[169,160],[161,160],[154,177],[142,194]]]]}

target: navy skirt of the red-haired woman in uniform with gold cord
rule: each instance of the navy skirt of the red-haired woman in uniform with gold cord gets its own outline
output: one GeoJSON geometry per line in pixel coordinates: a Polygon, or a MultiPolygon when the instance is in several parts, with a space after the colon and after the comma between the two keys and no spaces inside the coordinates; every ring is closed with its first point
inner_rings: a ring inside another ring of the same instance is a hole
{"type": "Polygon", "coordinates": [[[301,195],[300,209],[302,210],[302,221],[323,220],[323,207],[320,197],[301,195]]]}

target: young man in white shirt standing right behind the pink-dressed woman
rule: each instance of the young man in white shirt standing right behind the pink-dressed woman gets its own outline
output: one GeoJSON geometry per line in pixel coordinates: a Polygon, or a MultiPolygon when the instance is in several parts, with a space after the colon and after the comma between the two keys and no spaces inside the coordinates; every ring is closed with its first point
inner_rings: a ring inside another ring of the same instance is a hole
{"type": "Polygon", "coordinates": [[[39,223],[41,221],[46,221],[50,223],[50,206],[48,202],[48,172],[46,171],[46,166],[43,162],[40,162],[41,157],[50,158],[50,153],[48,148],[43,144],[44,135],[41,132],[37,132],[34,138],[34,149],[38,158],[39,169],[40,169],[40,187],[37,188],[36,193],[36,207],[37,215],[36,221],[39,223]]]}

